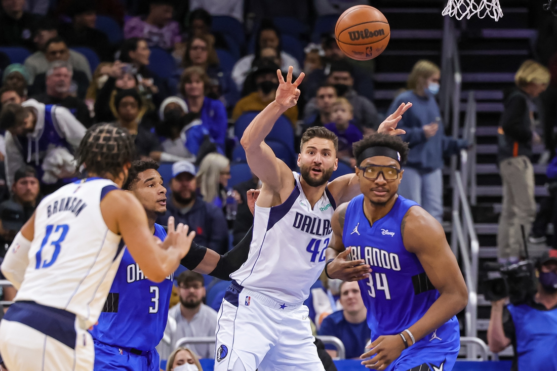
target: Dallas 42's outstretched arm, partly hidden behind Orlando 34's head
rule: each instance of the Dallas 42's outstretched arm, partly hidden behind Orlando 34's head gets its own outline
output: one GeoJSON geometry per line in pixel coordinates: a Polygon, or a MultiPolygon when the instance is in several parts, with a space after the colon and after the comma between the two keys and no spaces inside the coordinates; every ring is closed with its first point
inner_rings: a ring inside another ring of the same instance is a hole
{"type": "MultiPolygon", "coordinates": [[[[397,110],[390,114],[377,129],[378,133],[390,135],[402,135],[406,133],[403,129],[397,129],[397,124],[402,115],[412,107],[412,103],[401,103],[397,110]]],[[[329,191],[335,198],[337,204],[349,202],[360,194],[360,184],[355,174],[346,174],[336,178],[328,185],[329,191]]]]}

